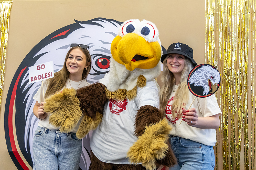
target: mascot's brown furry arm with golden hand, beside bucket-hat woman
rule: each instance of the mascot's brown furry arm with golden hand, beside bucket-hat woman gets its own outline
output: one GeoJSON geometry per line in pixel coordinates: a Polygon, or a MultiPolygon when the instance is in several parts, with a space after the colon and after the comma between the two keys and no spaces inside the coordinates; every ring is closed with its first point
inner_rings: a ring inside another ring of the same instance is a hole
{"type": "Polygon", "coordinates": [[[135,119],[135,134],[139,139],[128,152],[131,162],[141,162],[147,169],[161,165],[170,167],[177,163],[170,144],[166,141],[171,128],[167,120],[162,120],[162,118],[160,110],[153,106],[142,106],[138,110],[135,119]]]}

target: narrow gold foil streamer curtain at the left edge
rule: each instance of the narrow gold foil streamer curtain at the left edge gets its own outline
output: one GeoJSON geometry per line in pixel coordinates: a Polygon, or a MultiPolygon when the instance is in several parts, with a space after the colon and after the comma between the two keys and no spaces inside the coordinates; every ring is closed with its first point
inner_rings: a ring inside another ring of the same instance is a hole
{"type": "Polygon", "coordinates": [[[9,33],[10,10],[13,1],[0,1],[0,106],[4,87],[6,46],[9,33]]]}

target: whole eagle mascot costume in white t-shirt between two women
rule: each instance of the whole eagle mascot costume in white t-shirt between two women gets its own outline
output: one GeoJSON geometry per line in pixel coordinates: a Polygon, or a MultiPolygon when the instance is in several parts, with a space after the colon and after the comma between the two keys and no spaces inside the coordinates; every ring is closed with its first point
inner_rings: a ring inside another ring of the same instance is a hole
{"type": "Polygon", "coordinates": [[[109,73],[98,83],[46,99],[45,112],[60,131],[69,133],[80,119],[77,138],[93,130],[90,170],[153,170],[176,163],[171,127],[158,109],[158,34],[150,21],[125,21],[111,43],[109,73]]]}

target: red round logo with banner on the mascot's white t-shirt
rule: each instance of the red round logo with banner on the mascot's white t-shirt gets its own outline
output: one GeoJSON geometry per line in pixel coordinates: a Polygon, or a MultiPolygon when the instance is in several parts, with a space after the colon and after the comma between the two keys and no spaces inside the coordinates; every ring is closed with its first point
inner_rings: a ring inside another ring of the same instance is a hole
{"type": "Polygon", "coordinates": [[[126,99],[118,101],[110,99],[109,101],[109,110],[111,113],[119,115],[123,110],[126,110],[126,99]]]}

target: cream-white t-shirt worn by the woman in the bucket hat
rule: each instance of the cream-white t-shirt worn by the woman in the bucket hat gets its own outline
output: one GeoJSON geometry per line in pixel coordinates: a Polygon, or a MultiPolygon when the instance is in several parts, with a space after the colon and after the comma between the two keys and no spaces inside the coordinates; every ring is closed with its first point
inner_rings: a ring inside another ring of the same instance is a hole
{"type": "MultiPolygon", "coordinates": [[[[177,89],[177,88],[176,88],[177,89]]],[[[176,91],[175,91],[176,92],[176,91]]],[[[173,125],[171,130],[171,135],[182,137],[185,139],[193,140],[202,143],[207,146],[215,146],[216,143],[216,129],[200,129],[196,127],[189,126],[187,122],[177,119],[177,117],[172,117],[171,105],[175,96],[175,92],[172,91],[171,97],[165,109],[166,118],[169,124],[173,125]],[[180,121],[182,123],[180,124],[180,121]]],[[[188,107],[192,103],[195,96],[189,91],[188,102],[184,103],[184,109],[188,110],[188,107]]],[[[195,108],[198,117],[209,117],[216,114],[221,114],[221,110],[216,101],[215,95],[211,95],[205,98],[196,97],[195,101],[190,108],[195,108]]]]}

